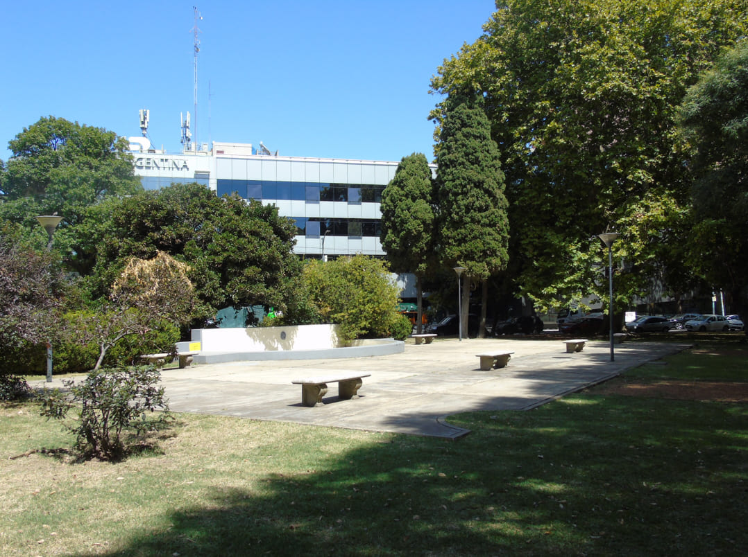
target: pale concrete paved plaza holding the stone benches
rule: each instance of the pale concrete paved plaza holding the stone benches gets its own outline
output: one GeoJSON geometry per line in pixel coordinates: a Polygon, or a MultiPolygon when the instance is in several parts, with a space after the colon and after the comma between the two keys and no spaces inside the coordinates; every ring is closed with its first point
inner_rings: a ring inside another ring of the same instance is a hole
{"type": "Polygon", "coordinates": [[[367,358],[242,361],[162,372],[172,411],[459,438],[449,416],[479,410],[528,410],[686,348],[674,343],[587,343],[567,354],[561,340],[466,339],[408,344],[400,354],[367,358]],[[476,354],[515,352],[509,365],[482,371],[476,354]],[[364,371],[358,398],[340,400],[328,385],[325,405],[301,405],[293,379],[364,371]]]}

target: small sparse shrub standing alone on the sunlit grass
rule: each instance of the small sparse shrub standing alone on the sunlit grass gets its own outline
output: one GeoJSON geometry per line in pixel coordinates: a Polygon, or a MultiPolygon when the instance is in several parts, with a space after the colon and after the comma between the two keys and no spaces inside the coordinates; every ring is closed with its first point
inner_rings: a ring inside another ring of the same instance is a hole
{"type": "Polygon", "coordinates": [[[126,455],[128,441],[162,428],[171,417],[159,379],[159,371],[151,366],[95,370],[84,382],[64,381],[67,393],[46,390],[41,414],[64,420],[80,405],[76,423],[68,426],[76,435],[76,449],[86,458],[119,460],[126,455]],[[155,417],[148,416],[155,411],[155,417]]]}

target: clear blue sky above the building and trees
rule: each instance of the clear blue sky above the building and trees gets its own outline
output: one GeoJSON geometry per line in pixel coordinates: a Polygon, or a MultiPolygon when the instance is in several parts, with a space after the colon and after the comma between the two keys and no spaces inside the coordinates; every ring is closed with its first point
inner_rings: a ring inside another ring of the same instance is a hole
{"type": "Polygon", "coordinates": [[[194,112],[200,143],[263,141],[281,155],[399,161],[433,156],[429,80],[472,43],[493,0],[35,1],[0,21],[0,159],[42,116],[178,152],[194,112]]]}

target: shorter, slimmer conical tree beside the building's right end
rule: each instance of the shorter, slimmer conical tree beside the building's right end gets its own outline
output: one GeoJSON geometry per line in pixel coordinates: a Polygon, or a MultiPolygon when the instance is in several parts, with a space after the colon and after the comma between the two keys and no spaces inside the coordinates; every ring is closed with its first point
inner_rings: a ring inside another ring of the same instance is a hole
{"type": "Polygon", "coordinates": [[[423,315],[423,276],[434,263],[434,185],[426,155],[403,157],[381,194],[381,245],[392,270],[416,277],[417,332],[423,315]]]}

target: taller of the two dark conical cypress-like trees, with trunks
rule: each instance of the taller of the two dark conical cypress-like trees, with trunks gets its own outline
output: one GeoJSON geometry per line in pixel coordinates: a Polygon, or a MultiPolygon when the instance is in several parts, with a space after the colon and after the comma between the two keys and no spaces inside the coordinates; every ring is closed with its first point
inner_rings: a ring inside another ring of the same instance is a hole
{"type": "Polygon", "coordinates": [[[483,284],[481,336],[485,334],[486,280],[506,269],[509,221],[499,151],[479,102],[455,96],[439,134],[436,163],[441,260],[465,267],[462,330],[468,330],[470,285],[483,284]]]}

